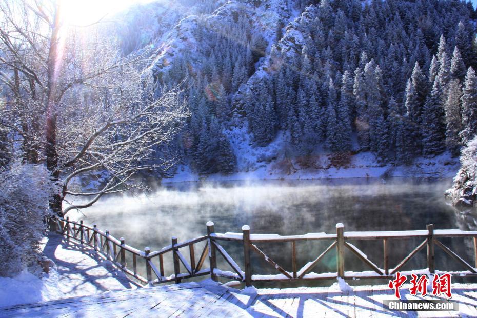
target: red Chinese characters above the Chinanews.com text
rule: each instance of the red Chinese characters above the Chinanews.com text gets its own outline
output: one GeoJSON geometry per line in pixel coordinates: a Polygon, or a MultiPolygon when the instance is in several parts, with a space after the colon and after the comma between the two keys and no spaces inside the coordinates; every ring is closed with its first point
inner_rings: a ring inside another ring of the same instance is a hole
{"type": "MultiPolygon", "coordinates": [[[[411,288],[409,289],[409,293],[411,295],[417,296],[420,294],[421,296],[427,295],[427,285],[429,283],[429,279],[426,275],[418,275],[411,274],[412,279],[409,283],[412,284],[411,288]]],[[[389,281],[389,288],[394,289],[394,295],[396,298],[400,299],[401,294],[399,293],[399,289],[401,286],[407,281],[407,277],[405,275],[401,275],[400,272],[396,273],[396,278],[392,281],[389,281]]],[[[452,297],[451,291],[451,275],[449,273],[444,273],[442,275],[435,274],[432,279],[432,295],[440,296],[441,294],[446,295],[448,298],[452,297]]]]}

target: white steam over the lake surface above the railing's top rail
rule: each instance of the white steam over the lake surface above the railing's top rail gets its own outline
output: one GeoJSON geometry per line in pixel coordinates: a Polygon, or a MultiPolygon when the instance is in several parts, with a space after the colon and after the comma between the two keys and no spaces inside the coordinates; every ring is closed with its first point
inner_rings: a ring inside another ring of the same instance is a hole
{"type": "Polygon", "coordinates": [[[304,234],[345,230],[456,228],[444,191],[451,181],[259,181],[166,185],[138,197],[105,198],[70,217],[96,223],[134,247],[152,249],[204,235],[206,222],[217,232],[304,234]]]}

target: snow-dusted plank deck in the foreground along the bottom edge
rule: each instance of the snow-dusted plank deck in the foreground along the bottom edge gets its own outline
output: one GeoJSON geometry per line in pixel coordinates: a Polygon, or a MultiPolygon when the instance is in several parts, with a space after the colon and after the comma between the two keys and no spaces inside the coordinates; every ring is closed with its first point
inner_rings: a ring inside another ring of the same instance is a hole
{"type": "MultiPolygon", "coordinates": [[[[22,317],[476,317],[477,284],[453,284],[459,312],[392,312],[387,286],[258,289],[240,291],[207,280],[137,290],[97,293],[45,303],[0,308],[0,316],[22,317]]],[[[407,286],[409,288],[409,286],[407,286]]],[[[419,299],[405,293],[406,299],[419,299]]],[[[429,297],[426,296],[426,299],[429,297]]]]}

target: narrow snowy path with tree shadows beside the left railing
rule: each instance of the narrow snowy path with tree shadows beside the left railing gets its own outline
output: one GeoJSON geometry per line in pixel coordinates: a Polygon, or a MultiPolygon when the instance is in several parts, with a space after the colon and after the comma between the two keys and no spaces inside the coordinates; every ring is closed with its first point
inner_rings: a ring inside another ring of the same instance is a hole
{"type": "Polygon", "coordinates": [[[65,297],[137,288],[137,285],[110,262],[94,255],[91,248],[79,250],[81,247],[68,244],[62,238],[63,236],[50,232],[48,239],[42,242],[42,249],[57,266],[58,287],[65,297]]]}

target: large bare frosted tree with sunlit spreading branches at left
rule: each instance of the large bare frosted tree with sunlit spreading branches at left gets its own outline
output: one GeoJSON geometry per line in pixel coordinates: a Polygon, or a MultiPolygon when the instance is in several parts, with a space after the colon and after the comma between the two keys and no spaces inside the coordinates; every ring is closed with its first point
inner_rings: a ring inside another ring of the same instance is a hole
{"type": "Polygon", "coordinates": [[[145,159],[188,115],[180,88],[157,87],[147,70],[153,52],[121,56],[97,26],[68,27],[61,1],[0,0],[0,21],[7,95],[0,124],[21,142],[26,162],[45,163],[60,183],[50,209],[62,215],[104,194],[143,188],[134,176],[157,168],[145,159]],[[95,191],[71,188],[95,172],[103,176],[95,191]],[[67,195],[92,199],[63,211],[67,195]]]}

